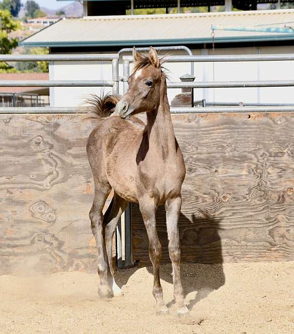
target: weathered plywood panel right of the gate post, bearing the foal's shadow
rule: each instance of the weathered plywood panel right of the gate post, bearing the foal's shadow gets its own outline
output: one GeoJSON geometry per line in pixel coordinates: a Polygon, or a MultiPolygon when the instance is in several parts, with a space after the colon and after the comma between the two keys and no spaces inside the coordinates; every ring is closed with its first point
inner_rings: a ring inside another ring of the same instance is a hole
{"type": "MultiPolygon", "coordinates": [[[[294,117],[173,115],[187,168],[179,231],[183,262],[294,260],[294,117]]],[[[169,262],[164,208],[157,212],[169,262]]],[[[132,207],[133,259],[149,265],[132,207]]]]}

